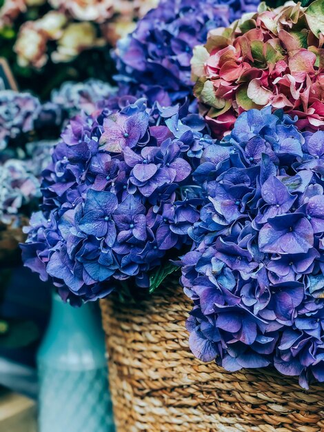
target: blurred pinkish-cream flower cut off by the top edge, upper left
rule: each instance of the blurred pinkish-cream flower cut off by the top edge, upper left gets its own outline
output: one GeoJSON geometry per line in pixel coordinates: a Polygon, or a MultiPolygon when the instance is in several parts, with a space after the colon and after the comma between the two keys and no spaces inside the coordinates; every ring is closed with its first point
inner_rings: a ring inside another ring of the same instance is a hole
{"type": "Polygon", "coordinates": [[[114,13],[117,0],[49,0],[55,9],[70,12],[79,21],[97,21],[103,23],[114,13]]]}

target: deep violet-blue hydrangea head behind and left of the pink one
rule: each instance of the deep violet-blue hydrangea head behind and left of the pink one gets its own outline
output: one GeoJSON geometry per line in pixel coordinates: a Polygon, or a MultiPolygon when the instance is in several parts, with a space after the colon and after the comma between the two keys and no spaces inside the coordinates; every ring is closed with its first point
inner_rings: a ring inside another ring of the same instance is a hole
{"type": "Polygon", "coordinates": [[[121,92],[169,106],[192,98],[190,59],[212,28],[227,26],[238,14],[256,10],[259,0],[161,0],[117,43],[121,92]]]}

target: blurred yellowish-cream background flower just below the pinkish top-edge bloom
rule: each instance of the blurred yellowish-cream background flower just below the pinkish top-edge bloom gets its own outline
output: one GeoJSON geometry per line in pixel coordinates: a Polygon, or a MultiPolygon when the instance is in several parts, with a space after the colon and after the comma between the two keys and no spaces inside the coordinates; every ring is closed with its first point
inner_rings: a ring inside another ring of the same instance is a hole
{"type": "Polygon", "coordinates": [[[91,23],[72,23],[63,31],[57,51],[52,53],[51,58],[56,63],[71,61],[83,50],[104,44],[103,39],[97,39],[96,28],[91,23]]]}

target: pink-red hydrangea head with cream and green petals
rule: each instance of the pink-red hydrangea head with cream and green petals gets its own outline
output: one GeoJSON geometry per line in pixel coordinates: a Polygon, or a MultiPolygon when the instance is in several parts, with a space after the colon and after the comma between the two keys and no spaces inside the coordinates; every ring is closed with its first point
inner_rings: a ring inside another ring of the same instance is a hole
{"type": "Polygon", "coordinates": [[[244,110],[272,105],[298,116],[300,128],[324,129],[324,28],[321,0],[290,3],[210,32],[194,50],[192,79],[215,137],[244,110]]]}

